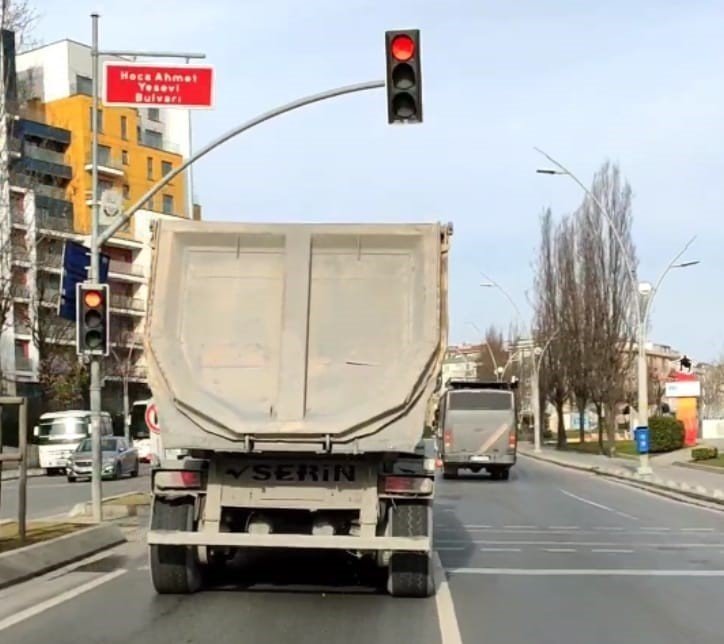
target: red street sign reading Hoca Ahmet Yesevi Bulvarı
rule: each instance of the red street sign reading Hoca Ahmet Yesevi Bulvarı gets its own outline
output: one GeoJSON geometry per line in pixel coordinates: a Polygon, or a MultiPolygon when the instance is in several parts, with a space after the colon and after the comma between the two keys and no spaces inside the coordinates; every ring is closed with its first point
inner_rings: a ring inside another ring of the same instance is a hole
{"type": "Polygon", "coordinates": [[[214,68],[105,61],[103,104],[110,107],[213,107],[214,68]]]}

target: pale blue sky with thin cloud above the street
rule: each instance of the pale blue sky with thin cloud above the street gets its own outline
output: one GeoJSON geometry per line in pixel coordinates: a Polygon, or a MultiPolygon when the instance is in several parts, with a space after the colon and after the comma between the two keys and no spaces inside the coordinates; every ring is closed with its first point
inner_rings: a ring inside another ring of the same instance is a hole
{"type": "Polygon", "coordinates": [[[36,0],[36,37],[203,52],[215,107],[194,148],[274,106],[380,80],[384,32],[421,30],[424,123],[387,124],[383,90],[287,114],[199,162],[204,219],[454,224],[450,341],[531,309],[539,216],[582,199],[607,160],[633,194],[639,277],[656,282],[650,339],[724,353],[724,3],[697,0],[36,0]]]}

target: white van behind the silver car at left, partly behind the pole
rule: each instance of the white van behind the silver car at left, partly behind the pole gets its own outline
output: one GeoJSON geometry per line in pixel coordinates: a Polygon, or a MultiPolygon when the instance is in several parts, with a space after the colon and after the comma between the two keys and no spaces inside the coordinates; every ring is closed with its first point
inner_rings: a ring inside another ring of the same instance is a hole
{"type": "MultiPolygon", "coordinates": [[[[91,435],[90,411],[71,409],[43,414],[33,428],[40,467],[46,474],[65,474],[68,457],[91,435]]],[[[101,436],[113,436],[113,421],[101,412],[101,436]]]]}

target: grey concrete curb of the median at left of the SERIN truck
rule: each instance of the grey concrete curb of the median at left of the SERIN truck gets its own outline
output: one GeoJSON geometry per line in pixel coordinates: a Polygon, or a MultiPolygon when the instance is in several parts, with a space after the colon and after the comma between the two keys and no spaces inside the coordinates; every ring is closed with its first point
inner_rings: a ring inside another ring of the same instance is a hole
{"type": "Polygon", "coordinates": [[[99,524],[0,554],[0,589],[125,542],[126,537],[118,526],[99,524]]]}

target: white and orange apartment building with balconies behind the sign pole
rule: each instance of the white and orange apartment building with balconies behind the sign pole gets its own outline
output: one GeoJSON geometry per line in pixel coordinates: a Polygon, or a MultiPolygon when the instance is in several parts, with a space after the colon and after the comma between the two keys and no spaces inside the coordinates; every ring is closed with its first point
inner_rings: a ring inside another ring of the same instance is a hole
{"type": "MultiPolygon", "coordinates": [[[[91,58],[88,46],[70,40],[15,56],[12,33],[4,32],[3,39],[6,77],[16,82],[7,83],[8,118],[0,128],[0,143],[8,150],[0,255],[13,296],[0,335],[0,367],[6,391],[29,394],[43,347],[66,351],[69,359],[75,354],[74,325],[56,311],[64,241],[89,245],[91,58]]],[[[97,198],[114,189],[127,207],[189,154],[186,110],[102,108],[97,123],[97,198]]],[[[119,408],[124,380],[131,383],[131,398],[146,393],[142,332],[151,222],[200,216],[198,207],[195,214],[190,209],[186,177],[179,175],[102,249],[110,257],[112,314],[112,355],[103,365],[106,409],[119,408]]]]}

